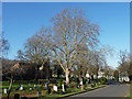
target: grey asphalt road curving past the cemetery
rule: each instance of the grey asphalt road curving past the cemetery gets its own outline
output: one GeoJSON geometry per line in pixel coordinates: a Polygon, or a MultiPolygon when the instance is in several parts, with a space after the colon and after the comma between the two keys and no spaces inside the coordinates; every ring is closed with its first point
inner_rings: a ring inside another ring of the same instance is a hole
{"type": "Polygon", "coordinates": [[[96,90],[91,90],[85,94],[75,95],[72,97],[67,97],[65,99],[72,99],[74,97],[124,97],[129,94],[130,87],[124,84],[114,82],[109,80],[109,86],[105,88],[99,88],[96,90]]]}

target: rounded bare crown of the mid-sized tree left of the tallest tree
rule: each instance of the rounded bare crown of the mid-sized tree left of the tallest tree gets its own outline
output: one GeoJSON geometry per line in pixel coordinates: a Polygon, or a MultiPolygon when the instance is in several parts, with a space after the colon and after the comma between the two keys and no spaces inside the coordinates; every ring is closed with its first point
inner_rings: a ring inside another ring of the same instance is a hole
{"type": "Polygon", "coordinates": [[[46,46],[34,35],[26,41],[24,50],[24,58],[36,64],[44,64],[45,56],[48,54],[46,46]]]}

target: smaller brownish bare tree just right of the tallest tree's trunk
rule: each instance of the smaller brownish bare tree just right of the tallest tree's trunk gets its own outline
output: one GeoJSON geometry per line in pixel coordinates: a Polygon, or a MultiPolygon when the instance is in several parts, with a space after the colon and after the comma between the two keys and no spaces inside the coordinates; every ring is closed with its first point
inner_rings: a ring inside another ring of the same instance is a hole
{"type": "Polygon", "coordinates": [[[79,80],[81,77],[85,77],[88,70],[89,65],[89,50],[86,44],[81,44],[78,46],[77,50],[77,58],[74,61],[73,64],[73,73],[79,76],[79,80]]]}

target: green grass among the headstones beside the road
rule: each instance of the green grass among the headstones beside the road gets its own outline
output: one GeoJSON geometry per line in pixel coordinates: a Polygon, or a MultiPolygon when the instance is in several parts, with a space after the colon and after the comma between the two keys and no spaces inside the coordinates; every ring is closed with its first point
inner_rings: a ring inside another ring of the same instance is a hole
{"type": "MultiPolygon", "coordinates": [[[[67,91],[66,92],[62,92],[62,94],[51,94],[51,95],[47,95],[47,90],[44,90],[44,87],[42,87],[41,85],[37,85],[37,88],[34,89],[34,82],[30,82],[31,86],[29,86],[29,82],[28,84],[16,84],[14,82],[12,85],[12,92],[10,96],[14,96],[14,94],[20,94],[20,96],[25,96],[25,97],[37,97],[37,92],[41,91],[42,92],[42,96],[43,98],[57,98],[57,97],[65,97],[65,96],[69,96],[69,95],[74,95],[74,94],[78,94],[78,92],[82,92],[82,91],[88,91],[90,89],[95,89],[95,88],[98,88],[98,87],[103,87],[106,85],[100,85],[100,86],[96,86],[96,87],[86,87],[85,90],[81,90],[80,88],[78,89],[75,89],[75,88],[67,88],[67,91]],[[19,90],[19,86],[20,85],[23,85],[23,88],[24,90],[19,90]],[[33,90],[30,90],[30,87],[33,88],[33,90]]],[[[2,81],[2,91],[3,91],[3,88],[8,88],[9,87],[9,82],[8,81],[2,81]]],[[[2,94],[2,97],[7,97],[7,94],[2,94]]],[[[42,98],[42,99],[43,99],[42,98]]],[[[40,99],[40,98],[38,98],[40,99]]]]}

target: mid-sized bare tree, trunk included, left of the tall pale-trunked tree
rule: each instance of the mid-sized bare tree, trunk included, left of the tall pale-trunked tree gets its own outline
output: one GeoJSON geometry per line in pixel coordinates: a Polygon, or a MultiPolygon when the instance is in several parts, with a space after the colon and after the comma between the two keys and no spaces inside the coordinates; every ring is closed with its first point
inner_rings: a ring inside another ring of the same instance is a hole
{"type": "Polygon", "coordinates": [[[26,43],[24,44],[24,51],[18,51],[16,57],[21,62],[35,64],[35,78],[37,79],[41,66],[46,65],[50,68],[50,64],[47,64],[50,62],[50,58],[45,57],[50,52],[46,48],[46,46],[43,43],[41,43],[35,35],[33,35],[30,38],[28,38],[26,43]]]}

